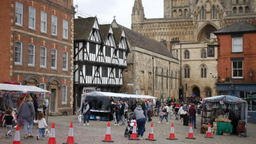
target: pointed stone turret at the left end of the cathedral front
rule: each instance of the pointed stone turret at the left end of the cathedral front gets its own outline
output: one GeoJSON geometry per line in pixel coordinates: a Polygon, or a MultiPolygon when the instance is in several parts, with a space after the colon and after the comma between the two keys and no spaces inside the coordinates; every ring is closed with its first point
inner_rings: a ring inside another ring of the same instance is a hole
{"type": "Polygon", "coordinates": [[[141,0],[135,0],[132,8],[132,24],[143,22],[144,17],[144,8],[141,0]]]}

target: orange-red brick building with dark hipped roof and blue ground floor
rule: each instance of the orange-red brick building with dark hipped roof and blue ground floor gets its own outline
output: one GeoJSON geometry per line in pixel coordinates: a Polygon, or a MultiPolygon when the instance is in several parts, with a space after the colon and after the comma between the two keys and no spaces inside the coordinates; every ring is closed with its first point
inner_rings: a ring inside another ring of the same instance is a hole
{"type": "Polygon", "coordinates": [[[248,102],[248,122],[256,122],[256,25],[241,21],[214,32],[218,38],[219,95],[233,95],[248,102]],[[254,111],[254,112],[253,112],[254,111]]]}

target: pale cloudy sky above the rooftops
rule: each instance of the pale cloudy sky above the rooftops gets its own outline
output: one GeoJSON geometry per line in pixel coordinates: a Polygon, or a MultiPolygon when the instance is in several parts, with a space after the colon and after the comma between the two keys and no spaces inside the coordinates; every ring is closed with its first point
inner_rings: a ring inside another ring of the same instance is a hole
{"type": "MultiPolygon", "coordinates": [[[[113,16],[120,25],[131,27],[131,13],[135,0],[74,0],[82,17],[96,16],[100,23],[111,23],[113,16]]],[[[142,0],[147,18],[160,18],[164,13],[163,0],[142,0]]]]}

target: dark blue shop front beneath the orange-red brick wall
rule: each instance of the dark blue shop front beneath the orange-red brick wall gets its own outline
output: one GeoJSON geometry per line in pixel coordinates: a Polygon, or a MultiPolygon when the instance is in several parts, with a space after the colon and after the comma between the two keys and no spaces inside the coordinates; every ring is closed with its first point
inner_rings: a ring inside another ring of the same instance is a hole
{"type": "Polygon", "coordinates": [[[256,83],[217,83],[219,95],[232,95],[248,103],[248,123],[256,123],[256,83]]]}

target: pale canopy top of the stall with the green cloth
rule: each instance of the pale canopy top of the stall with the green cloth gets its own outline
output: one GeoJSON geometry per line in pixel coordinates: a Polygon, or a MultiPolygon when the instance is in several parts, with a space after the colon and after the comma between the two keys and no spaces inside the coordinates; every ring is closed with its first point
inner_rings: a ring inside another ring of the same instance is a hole
{"type": "Polygon", "coordinates": [[[231,96],[231,95],[218,95],[215,97],[205,98],[205,101],[223,101],[226,104],[241,104],[247,103],[245,100],[231,96]]]}

